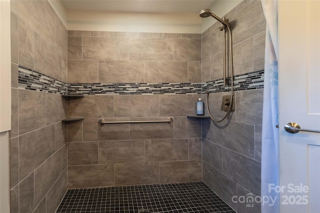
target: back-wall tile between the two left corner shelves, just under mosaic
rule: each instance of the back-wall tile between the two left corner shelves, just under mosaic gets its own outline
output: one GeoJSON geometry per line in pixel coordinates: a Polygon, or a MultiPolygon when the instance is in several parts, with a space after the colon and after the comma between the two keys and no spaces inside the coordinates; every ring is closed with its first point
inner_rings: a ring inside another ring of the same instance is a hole
{"type": "Polygon", "coordinates": [[[85,95],[69,97],[68,117],[113,117],[113,95],[85,95]]]}

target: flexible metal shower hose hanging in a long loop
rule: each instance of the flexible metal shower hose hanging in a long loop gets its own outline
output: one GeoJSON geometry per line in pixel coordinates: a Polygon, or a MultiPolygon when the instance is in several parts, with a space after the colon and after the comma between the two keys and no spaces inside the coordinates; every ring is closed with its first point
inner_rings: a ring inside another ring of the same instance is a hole
{"type": "MultiPolygon", "coordinates": [[[[221,21],[220,21],[221,22],[221,21]]],[[[223,24],[224,25],[224,24],[223,24]]],[[[221,122],[222,120],[224,120],[229,114],[230,114],[230,112],[231,112],[231,109],[232,109],[232,104],[234,104],[233,103],[233,59],[232,59],[232,36],[231,36],[231,29],[230,29],[230,27],[228,26],[228,25],[225,25],[226,26],[226,28],[228,29],[228,31],[229,31],[229,41],[230,41],[230,47],[229,47],[229,49],[230,49],[230,75],[231,75],[231,98],[230,98],[230,105],[229,105],[229,108],[228,108],[228,110],[227,110],[227,112],[225,113],[225,115],[223,116],[223,118],[221,118],[220,120],[216,120],[216,119],[214,119],[213,118],[213,116],[211,115],[211,112],[210,112],[210,109],[209,109],[209,101],[208,101],[208,99],[209,99],[209,90],[207,89],[206,91],[205,91],[205,93],[206,93],[206,110],[208,111],[208,115],[209,115],[209,117],[214,121],[214,122],[221,122]]],[[[224,27],[224,38],[225,38],[225,27],[224,27]]],[[[224,48],[225,49],[225,48],[224,48]]],[[[224,54],[224,58],[225,58],[225,54],[224,54]]],[[[223,63],[224,63],[224,66],[226,66],[226,63],[225,63],[225,59],[223,60],[223,63]]],[[[224,69],[224,68],[223,68],[224,69]]],[[[225,75],[225,71],[223,72],[224,74],[223,75],[225,75]]]]}

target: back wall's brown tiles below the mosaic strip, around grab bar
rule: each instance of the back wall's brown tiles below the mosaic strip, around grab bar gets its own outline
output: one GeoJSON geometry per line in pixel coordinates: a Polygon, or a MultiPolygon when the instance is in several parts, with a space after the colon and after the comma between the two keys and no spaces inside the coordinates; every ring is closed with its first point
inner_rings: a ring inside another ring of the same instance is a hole
{"type": "Polygon", "coordinates": [[[198,97],[149,94],[69,98],[68,114],[84,115],[85,119],[67,124],[68,187],[201,180],[201,120],[185,117],[195,114],[198,97]],[[149,120],[168,116],[174,119],[172,124],[97,123],[100,118],[149,120]],[[89,180],[93,181],[90,185],[89,180]]]}

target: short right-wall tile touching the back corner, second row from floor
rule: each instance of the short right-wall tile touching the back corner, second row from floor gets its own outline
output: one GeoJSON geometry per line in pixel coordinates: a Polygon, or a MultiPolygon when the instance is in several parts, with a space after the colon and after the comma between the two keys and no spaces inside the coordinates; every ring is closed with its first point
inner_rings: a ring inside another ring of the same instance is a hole
{"type": "Polygon", "coordinates": [[[202,141],[202,160],[222,172],[222,146],[204,139],[202,141]]]}

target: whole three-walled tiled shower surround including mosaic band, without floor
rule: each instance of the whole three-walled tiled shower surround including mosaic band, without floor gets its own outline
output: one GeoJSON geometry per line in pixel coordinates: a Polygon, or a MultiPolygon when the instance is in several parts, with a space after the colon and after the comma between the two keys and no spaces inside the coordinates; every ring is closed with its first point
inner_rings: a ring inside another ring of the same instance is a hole
{"type": "Polygon", "coordinates": [[[217,125],[185,115],[205,89],[222,115],[218,23],[202,34],[67,30],[47,1],[11,1],[11,211],[54,212],[68,188],[203,181],[237,212],[258,212],[231,197],[260,193],[265,20],[260,1],[226,16],[236,109],[217,125]]]}

